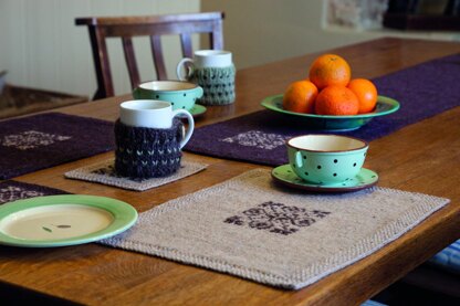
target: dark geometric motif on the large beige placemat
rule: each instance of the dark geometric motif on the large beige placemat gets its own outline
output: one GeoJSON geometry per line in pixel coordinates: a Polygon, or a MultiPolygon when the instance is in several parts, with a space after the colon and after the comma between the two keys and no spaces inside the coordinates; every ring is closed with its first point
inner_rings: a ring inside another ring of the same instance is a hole
{"type": "Polygon", "coordinates": [[[245,210],[241,214],[227,218],[223,222],[289,235],[295,233],[301,228],[312,225],[318,219],[323,219],[330,213],[321,210],[309,211],[303,208],[288,207],[269,201],[245,210]]]}

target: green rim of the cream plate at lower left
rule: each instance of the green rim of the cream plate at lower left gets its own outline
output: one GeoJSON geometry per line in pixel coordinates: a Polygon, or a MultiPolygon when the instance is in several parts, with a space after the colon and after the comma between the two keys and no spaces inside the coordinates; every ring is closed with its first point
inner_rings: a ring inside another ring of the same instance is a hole
{"type": "Polygon", "coordinates": [[[10,215],[11,213],[15,213],[22,210],[58,204],[81,204],[98,208],[112,213],[114,217],[114,221],[107,228],[101,231],[96,231],[94,233],[90,233],[82,236],[61,240],[43,241],[18,239],[4,234],[0,231],[0,244],[24,247],[50,247],[90,243],[126,231],[127,229],[134,225],[138,217],[137,211],[130,204],[116,199],[86,194],[60,194],[35,197],[4,203],[0,205],[0,221],[3,218],[10,215]]]}

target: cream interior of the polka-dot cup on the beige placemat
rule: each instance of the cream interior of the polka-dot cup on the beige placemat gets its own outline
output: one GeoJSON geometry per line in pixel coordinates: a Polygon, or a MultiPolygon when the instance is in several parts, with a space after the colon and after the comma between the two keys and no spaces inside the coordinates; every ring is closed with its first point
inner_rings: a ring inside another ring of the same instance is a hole
{"type": "Polygon", "coordinates": [[[311,151],[348,151],[367,146],[365,141],[338,135],[305,135],[289,140],[289,145],[311,151]]]}

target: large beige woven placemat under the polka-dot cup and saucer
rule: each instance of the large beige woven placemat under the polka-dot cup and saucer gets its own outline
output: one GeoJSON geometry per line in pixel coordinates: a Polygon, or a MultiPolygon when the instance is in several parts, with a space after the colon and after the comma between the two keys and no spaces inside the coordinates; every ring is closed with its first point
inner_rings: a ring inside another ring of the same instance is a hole
{"type": "Polygon", "coordinates": [[[380,249],[448,199],[370,188],[346,194],[280,189],[255,169],[140,213],[103,244],[301,288],[380,249]]]}

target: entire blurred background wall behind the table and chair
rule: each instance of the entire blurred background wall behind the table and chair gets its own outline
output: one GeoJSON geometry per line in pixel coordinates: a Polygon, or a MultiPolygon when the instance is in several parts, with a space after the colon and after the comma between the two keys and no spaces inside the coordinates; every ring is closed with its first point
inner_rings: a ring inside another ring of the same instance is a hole
{"type": "MultiPolygon", "coordinates": [[[[449,10],[456,15],[458,2],[0,0],[0,72],[8,71],[8,84],[91,97],[96,89],[94,65],[87,29],[74,24],[77,17],[224,11],[224,48],[233,52],[237,68],[244,68],[379,36],[460,41],[458,29],[411,29],[407,22],[410,14],[440,17],[449,10]]],[[[135,41],[143,81],[156,78],[147,44],[147,39],[135,41]]],[[[116,94],[129,93],[121,42],[109,41],[108,48],[116,94]]],[[[168,75],[175,78],[178,38],[166,38],[164,48],[168,75]]],[[[206,48],[194,38],[194,50],[206,48]]]]}

